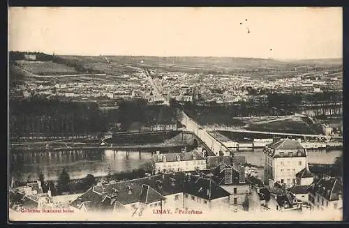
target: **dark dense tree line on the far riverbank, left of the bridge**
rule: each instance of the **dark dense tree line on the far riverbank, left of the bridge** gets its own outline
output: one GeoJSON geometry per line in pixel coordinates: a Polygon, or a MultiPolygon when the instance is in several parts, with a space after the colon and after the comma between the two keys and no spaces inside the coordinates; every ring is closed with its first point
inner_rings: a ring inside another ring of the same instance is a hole
{"type": "Polygon", "coordinates": [[[73,102],[33,97],[10,100],[10,135],[89,135],[105,132],[111,123],[126,131],[135,122],[142,125],[176,123],[174,107],[149,105],[147,100],[120,100],[119,109],[102,112],[95,102],[73,102]]]}

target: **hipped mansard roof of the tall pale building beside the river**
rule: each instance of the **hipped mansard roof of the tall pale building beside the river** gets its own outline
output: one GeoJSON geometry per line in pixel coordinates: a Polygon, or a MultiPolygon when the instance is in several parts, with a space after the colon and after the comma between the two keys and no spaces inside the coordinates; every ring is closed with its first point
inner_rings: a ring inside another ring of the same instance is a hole
{"type": "Polygon", "coordinates": [[[267,144],[263,151],[274,158],[306,156],[306,151],[302,144],[292,139],[281,139],[279,142],[267,144]],[[287,152],[282,155],[281,153],[283,152],[281,151],[288,151],[293,153],[291,154],[287,152]]]}

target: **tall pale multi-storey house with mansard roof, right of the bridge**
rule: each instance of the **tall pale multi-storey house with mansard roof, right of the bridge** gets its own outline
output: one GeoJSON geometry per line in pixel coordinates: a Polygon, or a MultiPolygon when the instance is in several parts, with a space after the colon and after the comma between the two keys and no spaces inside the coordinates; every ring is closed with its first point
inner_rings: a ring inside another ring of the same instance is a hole
{"type": "Polygon", "coordinates": [[[296,184],[296,174],[306,168],[306,149],[292,139],[275,139],[263,149],[265,154],[265,181],[296,184]]]}

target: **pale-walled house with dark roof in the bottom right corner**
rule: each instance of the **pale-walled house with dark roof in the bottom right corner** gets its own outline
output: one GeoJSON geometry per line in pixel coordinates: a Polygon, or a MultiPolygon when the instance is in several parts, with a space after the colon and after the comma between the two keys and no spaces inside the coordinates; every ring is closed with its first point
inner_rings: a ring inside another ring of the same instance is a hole
{"type": "Polygon", "coordinates": [[[308,188],[312,210],[339,210],[343,207],[343,181],[339,177],[325,176],[308,188]]]}

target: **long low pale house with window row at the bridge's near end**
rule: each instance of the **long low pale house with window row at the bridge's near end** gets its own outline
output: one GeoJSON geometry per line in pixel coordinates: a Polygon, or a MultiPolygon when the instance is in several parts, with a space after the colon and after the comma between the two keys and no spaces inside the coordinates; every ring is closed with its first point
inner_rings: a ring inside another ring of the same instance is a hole
{"type": "Polygon", "coordinates": [[[152,160],[155,164],[155,174],[206,169],[206,160],[197,150],[181,153],[157,153],[153,155],[152,160]]]}

